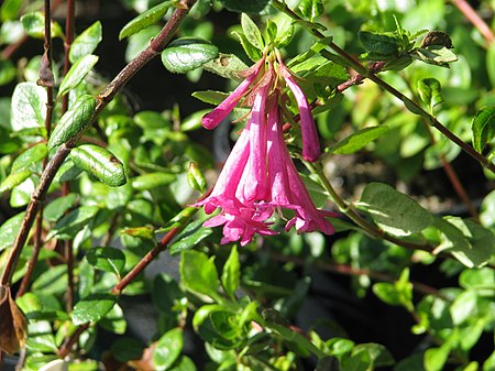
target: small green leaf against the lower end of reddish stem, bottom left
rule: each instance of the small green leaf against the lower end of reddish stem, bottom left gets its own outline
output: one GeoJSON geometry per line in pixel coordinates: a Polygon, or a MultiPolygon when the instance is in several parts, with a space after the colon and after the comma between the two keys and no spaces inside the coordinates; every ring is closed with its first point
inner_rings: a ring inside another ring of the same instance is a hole
{"type": "Polygon", "coordinates": [[[97,323],[103,318],[116,305],[116,296],[110,294],[92,294],[80,299],[74,306],[70,318],[74,325],[97,323]]]}

